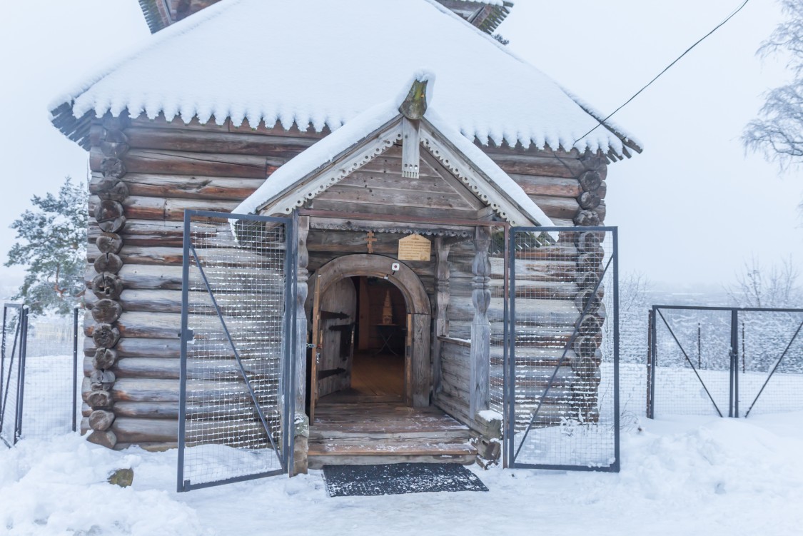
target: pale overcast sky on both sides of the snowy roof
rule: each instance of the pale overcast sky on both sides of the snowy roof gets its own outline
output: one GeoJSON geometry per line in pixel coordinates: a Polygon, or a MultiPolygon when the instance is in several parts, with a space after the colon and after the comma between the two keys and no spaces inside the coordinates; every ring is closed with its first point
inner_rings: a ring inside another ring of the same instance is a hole
{"type": "MultiPolygon", "coordinates": [[[[32,195],[55,192],[66,175],[86,177],[87,154],[51,126],[47,104],[149,38],[137,0],[6,3],[0,229],[32,195]]],[[[499,26],[512,51],[607,114],[741,2],[515,3],[499,26]]],[[[781,175],[740,142],[760,95],[787,76],[782,63],[755,55],[780,17],[774,0],[751,0],[614,118],[645,148],[609,168],[606,224],[620,229],[622,270],[662,286],[715,287],[751,255],[803,265],[800,170],[781,175]]],[[[13,242],[13,231],[0,231],[3,260],[13,242]]],[[[0,268],[0,289],[21,279],[22,270],[0,268]]]]}

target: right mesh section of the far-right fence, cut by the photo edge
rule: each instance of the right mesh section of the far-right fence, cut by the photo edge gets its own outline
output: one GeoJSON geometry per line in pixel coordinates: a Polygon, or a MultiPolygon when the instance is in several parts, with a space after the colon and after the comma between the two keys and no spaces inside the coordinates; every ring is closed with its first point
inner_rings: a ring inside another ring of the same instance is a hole
{"type": "Polygon", "coordinates": [[[744,416],[803,409],[803,311],[739,311],[738,401],[744,416]]]}

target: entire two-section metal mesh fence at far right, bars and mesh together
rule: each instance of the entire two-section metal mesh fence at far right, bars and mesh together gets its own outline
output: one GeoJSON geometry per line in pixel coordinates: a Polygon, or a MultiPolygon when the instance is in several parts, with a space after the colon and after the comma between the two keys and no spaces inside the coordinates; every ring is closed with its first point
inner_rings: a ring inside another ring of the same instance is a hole
{"type": "Polygon", "coordinates": [[[648,416],[803,409],[803,310],[654,306],[648,416]]]}

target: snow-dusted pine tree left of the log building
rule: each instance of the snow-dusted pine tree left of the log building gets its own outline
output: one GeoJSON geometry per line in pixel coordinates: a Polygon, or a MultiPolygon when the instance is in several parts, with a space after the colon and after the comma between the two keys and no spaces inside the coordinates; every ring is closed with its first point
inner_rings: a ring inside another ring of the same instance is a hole
{"type": "Polygon", "coordinates": [[[88,189],[67,177],[58,195],[34,196],[11,224],[17,239],[6,266],[26,266],[26,276],[14,299],[22,299],[34,314],[69,313],[83,302],[86,286],[88,189]]]}

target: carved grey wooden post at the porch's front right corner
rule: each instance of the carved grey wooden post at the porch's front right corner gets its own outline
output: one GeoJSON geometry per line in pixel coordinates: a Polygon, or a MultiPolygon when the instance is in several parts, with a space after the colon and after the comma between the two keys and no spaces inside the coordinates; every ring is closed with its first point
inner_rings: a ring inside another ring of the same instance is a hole
{"type": "Polygon", "coordinates": [[[489,407],[489,372],[491,368],[491,323],[488,321],[488,306],[491,304],[491,261],[488,246],[491,244],[491,229],[477,227],[474,235],[474,262],[471,273],[471,302],[474,303],[474,320],[471,322],[471,412],[489,407]]]}

